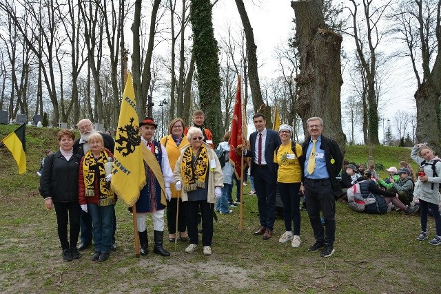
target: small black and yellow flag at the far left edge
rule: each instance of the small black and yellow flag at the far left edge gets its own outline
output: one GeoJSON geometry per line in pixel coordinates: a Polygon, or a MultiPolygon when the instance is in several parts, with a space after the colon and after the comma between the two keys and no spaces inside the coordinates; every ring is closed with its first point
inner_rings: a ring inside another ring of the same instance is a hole
{"type": "Polygon", "coordinates": [[[8,147],[9,151],[11,151],[17,165],[19,165],[19,174],[23,174],[26,171],[25,127],[26,124],[23,123],[18,129],[1,140],[1,142],[8,147]]]}

